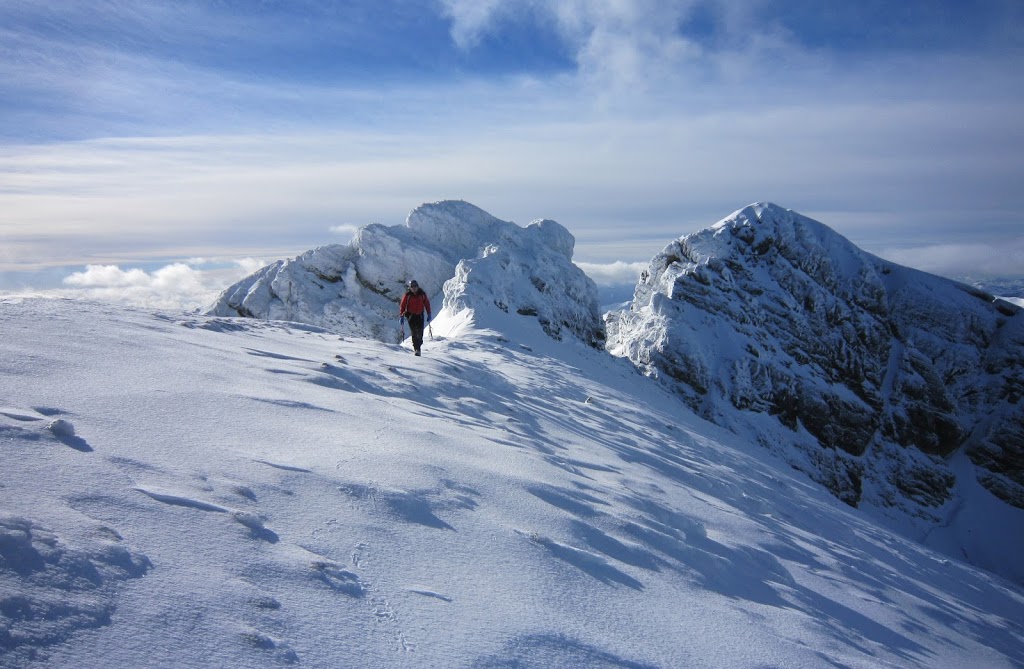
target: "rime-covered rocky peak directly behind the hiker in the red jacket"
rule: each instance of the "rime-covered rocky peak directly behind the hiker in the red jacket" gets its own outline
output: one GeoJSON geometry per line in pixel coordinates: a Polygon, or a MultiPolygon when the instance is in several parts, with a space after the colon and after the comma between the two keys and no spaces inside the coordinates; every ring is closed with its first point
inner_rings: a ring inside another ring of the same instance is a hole
{"type": "Polygon", "coordinates": [[[597,289],[572,264],[573,245],[568,231],[552,220],[523,228],[466,202],[425,204],[404,225],[367,225],[348,245],[263,267],[224,291],[209,312],[397,342],[398,301],[406,283],[416,279],[435,309],[442,297],[454,309],[511,308],[537,318],[552,337],[596,342],[603,331],[597,289]],[[492,293],[499,297],[473,297],[492,293]]]}

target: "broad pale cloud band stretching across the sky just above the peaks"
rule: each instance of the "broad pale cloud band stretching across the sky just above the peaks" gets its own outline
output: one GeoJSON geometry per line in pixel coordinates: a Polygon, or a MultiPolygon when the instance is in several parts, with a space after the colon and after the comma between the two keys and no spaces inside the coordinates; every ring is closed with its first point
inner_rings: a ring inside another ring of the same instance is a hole
{"type": "Polygon", "coordinates": [[[426,135],[397,127],[0,148],[0,270],[136,265],[157,252],[283,257],[444,198],[522,224],[554,218],[583,260],[647,260],[759,200],[842,212],[815,217],[859,244],[883,227],[928,229],[937,212],[950,221],[958,212],[981,234],[988,209],[1024,210],[1012,183],[1024,142],[1010,151],[1017,121],[1000,109],[791,97],[660,118],[526,116],[500,133],[452,119],[426,135]],[[339,219],[352,222],[331,229],[339,219]],[[628,249],[637,239],[653,240],[650,251],[608,255],[609,242],[628,249]],[[281,250],[250,250],[254,242],[281,250]]]}

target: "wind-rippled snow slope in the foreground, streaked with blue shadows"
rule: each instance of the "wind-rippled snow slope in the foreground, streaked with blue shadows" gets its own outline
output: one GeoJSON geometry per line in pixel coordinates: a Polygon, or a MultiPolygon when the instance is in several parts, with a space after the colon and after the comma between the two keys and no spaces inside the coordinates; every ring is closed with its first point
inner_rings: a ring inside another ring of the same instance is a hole
{"type": "Polygon", "coordinates": [[[0,666],[1024,666],[1020,587],[627,361],[433,332],[0,301],[0,666]]]}

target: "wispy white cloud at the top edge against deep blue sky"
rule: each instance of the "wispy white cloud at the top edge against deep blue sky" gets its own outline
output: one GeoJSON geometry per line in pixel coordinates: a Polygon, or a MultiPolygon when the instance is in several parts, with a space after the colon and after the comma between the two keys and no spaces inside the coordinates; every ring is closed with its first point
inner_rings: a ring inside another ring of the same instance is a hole
{"type": "Polygon", "coordinates": [[[503,24],[553,26],[577,65],[579,83],[602,108],[665,103],[665,92],[694,93],[712,81],[745,85],[776,70],[818,70],[822,54],[804,49],[766,22],[761,0],[442,0],[451,35],[471,50],[503,24]],[[681,30],[712,20],[717,37],[700,43],[681,30]]]}

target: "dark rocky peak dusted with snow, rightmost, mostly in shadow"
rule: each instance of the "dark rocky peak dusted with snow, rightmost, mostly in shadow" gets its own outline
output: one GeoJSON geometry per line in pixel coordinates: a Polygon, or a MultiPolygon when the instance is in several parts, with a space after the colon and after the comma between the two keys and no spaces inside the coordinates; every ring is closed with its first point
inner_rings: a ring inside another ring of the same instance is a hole
{"type": "Polygon", "coordinates": [[[851,505],[949,524],[976,476],[1024,508],[1024,313],[981,291],[753,205],[655,256],[608,331],[851,505]]]}

